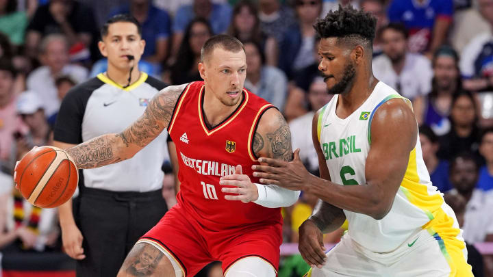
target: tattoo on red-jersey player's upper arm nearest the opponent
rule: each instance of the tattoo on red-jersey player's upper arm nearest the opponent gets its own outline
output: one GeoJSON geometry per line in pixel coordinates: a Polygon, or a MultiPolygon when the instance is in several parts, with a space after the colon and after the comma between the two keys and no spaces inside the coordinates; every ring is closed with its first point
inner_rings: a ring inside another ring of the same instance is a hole
{"type": "Polygon", "coordinates": [[[277,120],[279,122],[279,128],[274,133],[266,134],[268,143],[270,143],[272,157],[274,159],[292,161],[291,132],[288,123],[286,123],[286,120],[284,120],[281,114],[279,114],[277,120]]]}

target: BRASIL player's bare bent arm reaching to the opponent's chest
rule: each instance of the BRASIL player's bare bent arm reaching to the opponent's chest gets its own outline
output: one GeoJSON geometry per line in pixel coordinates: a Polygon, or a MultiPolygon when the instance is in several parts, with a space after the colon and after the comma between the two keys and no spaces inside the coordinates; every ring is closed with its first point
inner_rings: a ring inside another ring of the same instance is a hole
{"type": "MultiPolygon", "coordinates": [[[[269,166],[254,166],[260,182],[315,194],[331,205],[376,220],[387,215],[403,180],[409,155],[416,146],[418,125],[412,109],[399,98],[377,109],[371,123],[371,146],[365,163],[366,184],[340,185],[306,174],[294,161],[259,159],[269,166]]],[[[296,154],[296,153],[295,153],[296,154]]]]}

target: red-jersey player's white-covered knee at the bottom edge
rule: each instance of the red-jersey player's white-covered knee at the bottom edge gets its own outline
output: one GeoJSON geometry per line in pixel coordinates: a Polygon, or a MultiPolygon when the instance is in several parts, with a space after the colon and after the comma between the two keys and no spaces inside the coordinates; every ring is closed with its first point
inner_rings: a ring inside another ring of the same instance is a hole
{"type": "Polygon", "coordinates": [[[270,263],[257,256],[240,259],[226,272],[225,277],[275,277],[275,269],[270,263]]]}

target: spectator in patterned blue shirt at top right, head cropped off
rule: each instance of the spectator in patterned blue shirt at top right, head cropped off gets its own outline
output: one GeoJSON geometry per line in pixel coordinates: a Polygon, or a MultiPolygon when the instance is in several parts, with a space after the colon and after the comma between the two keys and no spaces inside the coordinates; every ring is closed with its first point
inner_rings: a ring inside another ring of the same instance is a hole
{"type": "Polygon", "coordinates": [[[393,0],[390,22],[403,23],[409,31],[409,51],[431,53],[444,44],[453,16],[452,0],[393,0]]]}

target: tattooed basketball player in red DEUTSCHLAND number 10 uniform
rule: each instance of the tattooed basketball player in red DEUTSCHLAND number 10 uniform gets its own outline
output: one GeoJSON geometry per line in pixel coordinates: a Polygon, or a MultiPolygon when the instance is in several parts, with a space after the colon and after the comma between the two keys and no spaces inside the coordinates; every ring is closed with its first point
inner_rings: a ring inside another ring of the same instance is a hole
{"type": "Polygon", "coordinates": [[[201,52],[204,81],[169,86],[122,133],[66,150],[79,168],[96,168],[131,158],[166,128],[176,144],[178,204],[136,243],[118,276],[194,276],[211,261],[222,261],[227,277],[276,276],[279,207],[299,192],[258,184],[251,166],[257,157],[290,161],[291,135],[273,105],[243,88],[246,70],[241,42],[214,36],[201,52]]]}

